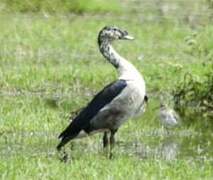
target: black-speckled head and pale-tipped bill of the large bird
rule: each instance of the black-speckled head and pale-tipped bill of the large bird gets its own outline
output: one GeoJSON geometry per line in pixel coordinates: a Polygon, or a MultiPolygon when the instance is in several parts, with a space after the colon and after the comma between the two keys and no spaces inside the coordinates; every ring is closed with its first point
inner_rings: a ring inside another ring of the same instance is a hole
{"type": "Polygon", "coordinates": [[[133,40],[132,36],[129,36],[128,32],[121,30],[116,26],[104,27],[98,35],[98,43],[103,41],[112,42],[114,40],[133,40]]]}

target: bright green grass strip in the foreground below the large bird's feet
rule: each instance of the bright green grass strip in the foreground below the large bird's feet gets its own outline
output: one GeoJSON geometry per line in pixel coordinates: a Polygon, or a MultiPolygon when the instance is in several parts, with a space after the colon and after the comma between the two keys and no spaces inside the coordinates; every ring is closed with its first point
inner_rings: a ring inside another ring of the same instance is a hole
{"type": "Polygon", "coordinates": [[[18,157],[10,160],[14,164],[1,174],[3,178],[25,179],[35,178],[36,175],[36,178],[42,179],[202,179],[212,175],[210,163],[183,160],[171,163],[122,156],[109,161],[97,157],[97,154],[82,155],[72,164],[63,164],[57,159],[46,157],[30,160],[18,157]]]}

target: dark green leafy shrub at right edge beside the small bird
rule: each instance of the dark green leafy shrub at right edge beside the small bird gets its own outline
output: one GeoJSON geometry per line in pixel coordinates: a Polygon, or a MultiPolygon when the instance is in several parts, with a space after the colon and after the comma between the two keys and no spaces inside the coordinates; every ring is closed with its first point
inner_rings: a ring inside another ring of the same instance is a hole
{"type": "MultiPolygon", "coordinates": [[[[188,123],[195,124],[199,118],[194,118],[196,115],[203,119],[203,125],[208,124],[212,127],[213,118],[213,66],[202,77],[186,73],[184,81],[178,84],[174,92],[174,100],[176,109],[184,116],[188,123]],[[204,123],[204,120],[209,123],[204,123]]],[[[203,67],[204,68],[204,67],[203,67]]]]}

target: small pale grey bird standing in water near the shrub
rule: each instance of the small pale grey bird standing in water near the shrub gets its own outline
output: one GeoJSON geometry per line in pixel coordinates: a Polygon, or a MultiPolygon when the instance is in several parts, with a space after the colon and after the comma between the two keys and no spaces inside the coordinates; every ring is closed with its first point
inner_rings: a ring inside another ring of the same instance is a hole
{"type": "Polygon", "coordinates": [[[176,127],[179,124],[179,115],[165,104],[160,104],[159,119],[161,124],[168,130],[169,128],[176,127]]]}

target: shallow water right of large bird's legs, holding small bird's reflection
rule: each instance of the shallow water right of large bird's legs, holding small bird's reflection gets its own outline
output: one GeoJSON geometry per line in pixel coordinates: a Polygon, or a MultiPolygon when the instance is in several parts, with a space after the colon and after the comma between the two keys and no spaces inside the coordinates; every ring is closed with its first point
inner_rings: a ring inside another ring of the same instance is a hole
{"type": "MultiPolygon", "coordinates": [[[[163,131],[159,131],[163,132],[163,131]]],[[[120,142],[120,152],[139,159],[196,159],[213,161],[213,144],[204,134],[180,131],[176,133],[154,133],[144,136],[144,141],[120,142]]]]}

